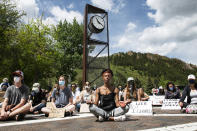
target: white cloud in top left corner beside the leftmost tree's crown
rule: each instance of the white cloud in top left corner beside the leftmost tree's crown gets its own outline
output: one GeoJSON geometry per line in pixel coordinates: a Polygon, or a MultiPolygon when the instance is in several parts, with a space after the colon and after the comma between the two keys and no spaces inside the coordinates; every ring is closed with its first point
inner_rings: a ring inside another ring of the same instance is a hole
{"type": "Polygon", "coordinates": [[[39,8],[35,0],[13,0],[13,2],[16,3],[17,9],[26,13],[26,16],[23,17],[26,23],[32,18],[38,17],[39,8]]]}

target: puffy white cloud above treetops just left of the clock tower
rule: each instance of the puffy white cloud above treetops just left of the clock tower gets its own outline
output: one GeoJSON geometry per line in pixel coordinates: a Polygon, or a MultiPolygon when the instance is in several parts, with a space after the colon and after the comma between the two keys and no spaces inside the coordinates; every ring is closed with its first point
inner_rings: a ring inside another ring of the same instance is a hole
{"type": "Polygon", "coordinates": [[[83,16],[80,12],[78,11],[68,11],[67,9],[63,8],[61,9],[59,6],[54,6],[52,7],[51,11],[51,17],[47,17],[43,23],[45,24],[57,24],[60,20],[67,20],[69,23],[71,23],[73,21],[74,18],[76,18],[76,20],[79,23],[83,22],[83,16]]]}

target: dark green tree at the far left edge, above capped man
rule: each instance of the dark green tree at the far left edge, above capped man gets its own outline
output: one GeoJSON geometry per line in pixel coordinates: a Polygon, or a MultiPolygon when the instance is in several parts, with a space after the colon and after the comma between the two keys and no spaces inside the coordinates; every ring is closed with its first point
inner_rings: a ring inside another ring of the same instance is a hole
{"type": "Polygon", "coordinates": [[[10,74],[10,52],[17,35],[20,18],[24,15],[10,0],[0,1],[0,78],[10,74]]]}

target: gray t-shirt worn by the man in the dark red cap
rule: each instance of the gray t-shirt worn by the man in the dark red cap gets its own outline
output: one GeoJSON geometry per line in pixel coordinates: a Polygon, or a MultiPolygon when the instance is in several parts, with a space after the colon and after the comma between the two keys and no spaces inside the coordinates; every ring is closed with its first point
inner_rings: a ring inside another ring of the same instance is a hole
{"type": "Polygon", "coordinates": [[[17,105],[20,103],[21,99],[27,101],[29,95],[29,88],[22,85],[16,88],[15,85],[9,86],[5,92],[4,98],[8,98],[8,105],[17,105]]]}

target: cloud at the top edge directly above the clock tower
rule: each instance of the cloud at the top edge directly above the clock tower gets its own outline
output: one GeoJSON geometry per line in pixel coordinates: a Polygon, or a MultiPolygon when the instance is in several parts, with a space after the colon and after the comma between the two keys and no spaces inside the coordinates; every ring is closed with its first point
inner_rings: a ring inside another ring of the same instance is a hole
{"type": "Polygon", "coordinates": [[[124,0],[91,0],[91,2],[93,5],[113,13],[119,13],[120,9],[125,6],[124,0]]]}

